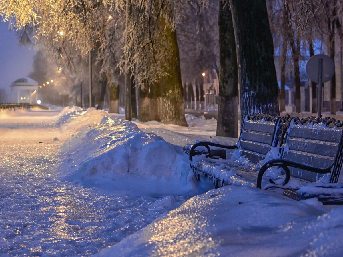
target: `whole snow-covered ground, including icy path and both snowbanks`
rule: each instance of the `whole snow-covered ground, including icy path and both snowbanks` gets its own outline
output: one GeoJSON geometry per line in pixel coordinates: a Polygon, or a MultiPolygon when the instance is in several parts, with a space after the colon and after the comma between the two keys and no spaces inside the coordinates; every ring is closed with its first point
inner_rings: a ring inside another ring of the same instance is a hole
{"type": "Polygon", "coordinates": [[[342,255],[342,207],[194,182],[181,146],[236,141],[214,137],[215,120],[117,118],[0,114],[0,255],[342,255]]]}

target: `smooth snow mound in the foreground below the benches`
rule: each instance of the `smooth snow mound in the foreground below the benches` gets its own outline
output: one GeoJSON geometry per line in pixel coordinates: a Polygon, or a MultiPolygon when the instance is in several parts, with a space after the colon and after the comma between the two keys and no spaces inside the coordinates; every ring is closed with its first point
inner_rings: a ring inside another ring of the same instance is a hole
{"type": "Polygon", "coordinates": [[[226,186],[193,197],[99,256],[340,256],[342,207],[226,186]]]}

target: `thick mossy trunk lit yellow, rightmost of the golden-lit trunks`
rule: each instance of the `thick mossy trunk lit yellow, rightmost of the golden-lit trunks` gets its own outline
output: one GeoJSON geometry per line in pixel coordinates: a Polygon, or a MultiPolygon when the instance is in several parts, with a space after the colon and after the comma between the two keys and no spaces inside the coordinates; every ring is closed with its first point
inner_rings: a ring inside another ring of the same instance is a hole
{"type": "Polygon", "coordinates": [[[171,56],[162,64],[165,73],[169,75],[161,78],[161,88],[163,87],[161,121],[165,124],[170,123],[188,126],[185,118],[184,91],[181,82],[180,56],[176,30],[171,29],[171,26],[166,24],[164,18],[161,19],[161,25],[161,28],[165,30],[171,49],[171,56]]]}

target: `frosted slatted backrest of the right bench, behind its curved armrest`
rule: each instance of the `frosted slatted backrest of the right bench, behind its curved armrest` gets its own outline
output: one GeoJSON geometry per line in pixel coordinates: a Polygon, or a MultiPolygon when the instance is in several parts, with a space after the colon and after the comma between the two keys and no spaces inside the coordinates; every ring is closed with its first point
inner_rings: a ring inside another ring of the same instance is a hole
{"type": "MultiPolygon", "coordinates": [[[[342,166],[342,125],[335,119],[293,117],[289,122],[281,158],[315,168],[332,167],[331,182],[338,181],[342,166]],[[338,158],[341,156],[340,158],[338,158]]],[[[292,176],[317,181],[321,174],[289,168],[292,176]]]]}

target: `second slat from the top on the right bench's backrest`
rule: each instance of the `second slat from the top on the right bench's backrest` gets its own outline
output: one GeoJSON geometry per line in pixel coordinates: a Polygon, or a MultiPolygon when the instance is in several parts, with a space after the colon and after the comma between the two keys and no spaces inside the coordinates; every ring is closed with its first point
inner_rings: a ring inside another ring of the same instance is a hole
{"type": "Polygon", "coordinates": [[[324,155],[335,157],[338,150],[338,145],[330,145],[317,142],[308,142],[297,139],[287,139],[289,149],[301,151],[309,154],[324,155]]]}

